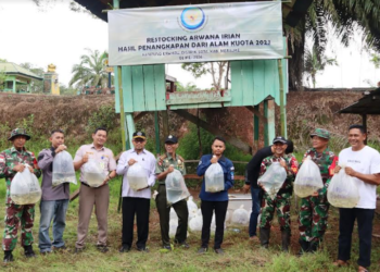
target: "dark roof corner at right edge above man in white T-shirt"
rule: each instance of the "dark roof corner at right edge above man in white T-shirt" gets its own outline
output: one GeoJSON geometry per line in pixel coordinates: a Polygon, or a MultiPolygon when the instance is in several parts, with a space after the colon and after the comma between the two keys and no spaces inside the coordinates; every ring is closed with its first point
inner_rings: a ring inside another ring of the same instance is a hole
{"type": "Polygon", "coordinates": [[[380,114],[380,88],[365,94],[357,102],[338,111],[338,113],[380,114]]]}

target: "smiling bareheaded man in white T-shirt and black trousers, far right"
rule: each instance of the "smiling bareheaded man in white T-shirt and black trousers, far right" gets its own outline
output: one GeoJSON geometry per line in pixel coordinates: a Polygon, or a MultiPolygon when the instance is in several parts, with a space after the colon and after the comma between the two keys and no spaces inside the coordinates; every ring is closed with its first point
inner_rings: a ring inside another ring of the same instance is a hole
{"type": "MultiPolygon", "coordinates": [[[[351,240],[355,219],[359,233],[358,271],[367,271],[370,265],[372,220],[376,208],[376,187],[380,185],[380,154],[373,148],[365,145],[367,134],[363,125],[352,125],[349,128],[350,148],[339,153],[339,164],[345,165],[344,171],[354,177],[360,195],[355,208],[339,209],[339,251],[335,265],[346,265],[351,257],[351,240]]],[[[335,173],[341,170],[335,168],[335,173]]]]}

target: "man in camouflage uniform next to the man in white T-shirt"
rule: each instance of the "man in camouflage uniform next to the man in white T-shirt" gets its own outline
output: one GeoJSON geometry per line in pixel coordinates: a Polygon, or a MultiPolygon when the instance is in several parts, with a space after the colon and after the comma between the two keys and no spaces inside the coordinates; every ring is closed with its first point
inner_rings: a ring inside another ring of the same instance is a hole
{"type": "MultiPolygon", "coordinates": [[[[324,187],[315,191],[312,196],[301,199],[301,211],[299,217],[300,230],[300,255],[303,252],[314,252],[318,249],[327,228],[327,218],[329,202],[327,201],[327,188],[329,186],[333,170],[335,156],[330,151],[328,144],[330,133],[322,128],[316,128],[311,134],[313,148],[307,150],[304,160],[311,156],[318,165],[324,182],[324,187]],[[333,166],[333,165],[332,165],[333,166]]],[[[301,165],[300,165],[301,166],[301,165]]]]}

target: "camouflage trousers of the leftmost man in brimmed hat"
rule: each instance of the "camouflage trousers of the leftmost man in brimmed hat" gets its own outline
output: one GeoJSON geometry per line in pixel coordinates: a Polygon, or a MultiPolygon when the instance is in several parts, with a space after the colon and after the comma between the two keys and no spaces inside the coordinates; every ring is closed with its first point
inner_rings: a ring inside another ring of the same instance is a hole
{"type": "Polygon", "coordinates": [[[8,203],[5,210],[5,228],[2,238],[2,249],[13,250],[17,244],[17,228],[21,224],[21,244],[29,246],[34,238],[31,234],[35,221],[35,205],[8,203]]]}

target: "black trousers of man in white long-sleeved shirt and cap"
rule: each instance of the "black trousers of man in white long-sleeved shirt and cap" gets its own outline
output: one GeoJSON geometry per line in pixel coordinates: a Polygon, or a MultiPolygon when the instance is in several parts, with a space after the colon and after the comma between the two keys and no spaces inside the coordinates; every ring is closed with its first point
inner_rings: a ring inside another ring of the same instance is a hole
{"type": "Polygon", "coordinates": [[[134,221],[137,221],[138,248],[144,248],[149,234],[149,210],[151,200],[138,197],[123,197],[123,246],[131,247],[134,240],[134,221]]]}

